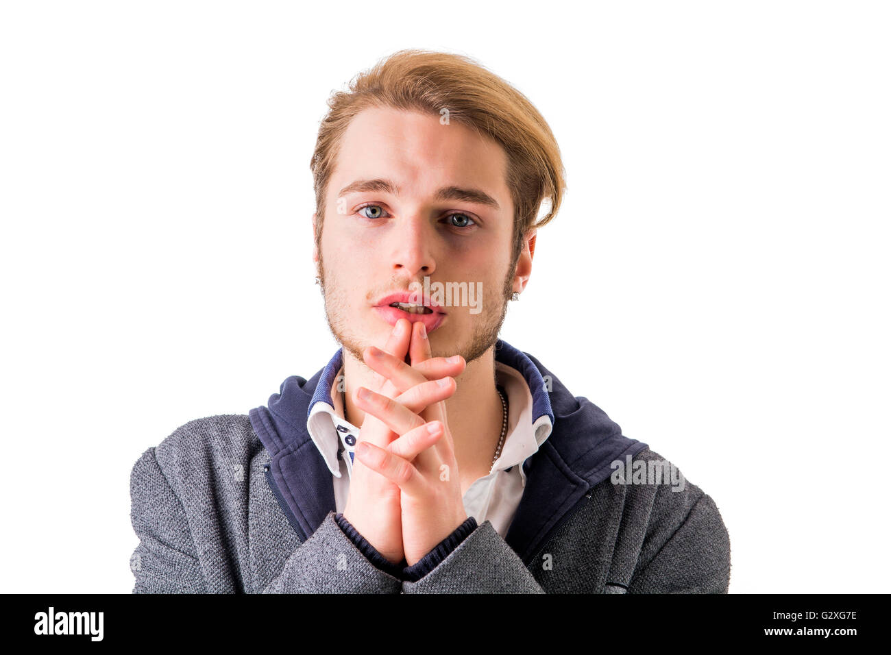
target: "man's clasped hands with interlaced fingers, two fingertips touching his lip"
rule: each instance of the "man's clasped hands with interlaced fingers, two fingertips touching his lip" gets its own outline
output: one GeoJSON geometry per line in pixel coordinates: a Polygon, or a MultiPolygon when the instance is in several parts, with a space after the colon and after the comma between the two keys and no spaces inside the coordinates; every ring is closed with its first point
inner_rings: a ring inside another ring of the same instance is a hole
{"type": "Polygon", "coordinates": [[[412,566],[467,520],[444,402],[467,364],[432,357],[423,323],[405,318],[363,358],[383,382],[353,394],[365,418],[343,515],[388,561],[412,566]]]}

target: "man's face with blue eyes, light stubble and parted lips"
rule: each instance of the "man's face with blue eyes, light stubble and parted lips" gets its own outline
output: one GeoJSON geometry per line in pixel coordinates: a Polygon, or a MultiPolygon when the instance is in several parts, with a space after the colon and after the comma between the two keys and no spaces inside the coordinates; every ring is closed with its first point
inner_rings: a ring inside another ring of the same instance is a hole
{"type": "Polygon", "coordinates": [[[331,332],[356,359],[368,346],[383,348],[400,316],[427,325],[435,357],[458,354],[470,364],[495,344],[515,275],[506,170],[499,145],[436,116],[373,108],[352,120],[314,259],[331,332]],[[395,188],[359,184],[372,180],[395,188]],[[473,193],[442,194],[449,188],[473,193]],[[432,315],[381,302],[421,288],[425,277],[441,305],[432,315]],[[447,294],[447,282],[463,282],[462,291],[447,294]]]}

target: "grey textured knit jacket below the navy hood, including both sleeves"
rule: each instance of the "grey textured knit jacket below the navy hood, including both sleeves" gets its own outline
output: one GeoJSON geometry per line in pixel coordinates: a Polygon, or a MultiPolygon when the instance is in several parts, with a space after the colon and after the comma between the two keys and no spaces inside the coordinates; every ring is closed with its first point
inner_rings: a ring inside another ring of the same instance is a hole
{"type": "MultiPolygon", "coordinates": [[[[649,448],[634,461],[664,461],[649,448]]],[[[134,593],[726,593],[730,540],[689,480],[592,487],[528,566],[488,521],[417,581],[378,569],[334,512],[305,543],[242,414],[188,422],[135,463],[134,593]]]]}

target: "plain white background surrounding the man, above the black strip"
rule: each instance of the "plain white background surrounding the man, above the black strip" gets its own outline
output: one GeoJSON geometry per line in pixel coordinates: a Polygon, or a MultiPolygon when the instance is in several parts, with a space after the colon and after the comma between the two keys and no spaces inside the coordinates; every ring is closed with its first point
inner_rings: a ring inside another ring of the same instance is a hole
{"type": "Polygon", "coordinates": [[[331,91],[470,55],[568,192],[503,339],[720,508],[732,593],[888,590],[887,3],[0,4],[4,592],[133,587],[129,475],[337,344],[331,91]]]}

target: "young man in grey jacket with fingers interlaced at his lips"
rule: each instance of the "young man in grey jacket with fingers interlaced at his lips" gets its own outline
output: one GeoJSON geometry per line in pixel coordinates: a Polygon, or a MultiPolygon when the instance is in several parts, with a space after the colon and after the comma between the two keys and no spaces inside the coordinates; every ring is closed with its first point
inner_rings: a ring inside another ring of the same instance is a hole
{"type": "Polygon", "coordinates": [[[342,348],[143,454],[134,591],[726,592],[712,499],[498,339],[564,188],[538,111],[419,51],[329,106],[314,258],[342,348]]]}

